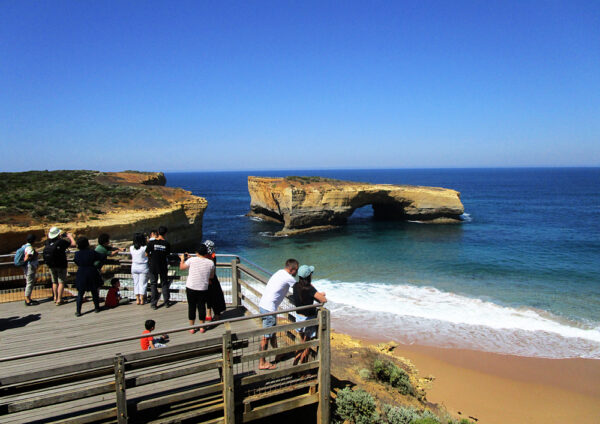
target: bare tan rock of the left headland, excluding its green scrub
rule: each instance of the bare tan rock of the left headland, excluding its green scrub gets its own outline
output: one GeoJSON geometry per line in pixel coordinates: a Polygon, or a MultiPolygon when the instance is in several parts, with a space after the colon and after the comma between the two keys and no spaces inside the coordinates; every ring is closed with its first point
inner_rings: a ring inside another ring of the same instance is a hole
{"type": "Polygon", "coordinates": [[[137,190],[130,199],[119,204],[109,203],[103,207],[102,213],[92,216],[80,215],[68,222],[36,223],[35,219],[30,219],[28,224],[1,224],[0,253],[14,252],[30,233],[36,234],[39,241],[45,240],[52,226],[70,231],[75,236],[86,236],[92,242],[101,233],[108,233],[117,245],[130,245],[134,233],[149,232],[160,225],[168,227],[167,239],[175,246],[201,240],[206,199],[180,188],[164,187],[164,174],[102,173],[97,181],[137,190]]]}

